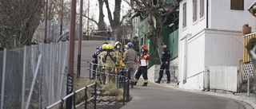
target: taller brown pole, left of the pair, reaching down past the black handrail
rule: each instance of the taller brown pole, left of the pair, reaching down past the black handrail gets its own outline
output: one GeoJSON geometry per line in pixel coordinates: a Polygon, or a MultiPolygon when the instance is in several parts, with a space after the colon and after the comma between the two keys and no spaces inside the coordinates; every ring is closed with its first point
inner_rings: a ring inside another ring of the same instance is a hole
{"type": "MultiPolygon", "coordinates": [[[[74,31],[75,31],[75,15],[76,15],[76,0],[71,0],[71,17],[70,17],[70,45],[69,57],[67,66],[67,86],[66,95],[73,91],[73,73],[74,73],[74,31]]],[[[66,99],[66,109],[72,108],[72,97],[66,99]]]]}

